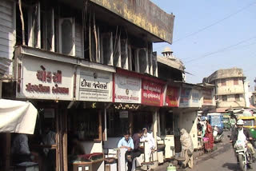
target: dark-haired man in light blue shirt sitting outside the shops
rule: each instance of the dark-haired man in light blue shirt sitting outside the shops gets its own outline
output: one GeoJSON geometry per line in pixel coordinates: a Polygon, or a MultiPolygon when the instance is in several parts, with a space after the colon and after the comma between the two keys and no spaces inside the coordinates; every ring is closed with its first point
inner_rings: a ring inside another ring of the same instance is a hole
{"type": "Polygon", "coordinates": [[[132,169],[132,152],[134,149],[134,141],[133,139],[130,137],[130,133],[127,132],[123,135],[124,137],[122,137],[122,139],[120,141],[118,141],[118,148],[125,148],[127,149],[126,151],[126,160],[128,161],[128,171],[130,171],[132,169]]]}

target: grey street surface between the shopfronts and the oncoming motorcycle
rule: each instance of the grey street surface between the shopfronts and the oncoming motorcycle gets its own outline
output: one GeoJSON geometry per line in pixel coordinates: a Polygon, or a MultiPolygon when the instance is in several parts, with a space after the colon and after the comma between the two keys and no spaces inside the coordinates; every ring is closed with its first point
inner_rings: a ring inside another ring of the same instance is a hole
{"type": "MultiPolygon", "coordinates": [[[[229,132],[225,132],[227,135],[229,132]]],[[[225,136],[222,143],[218,143],[218,149],[213,153],[205,154],[199,157],[198,160],[194,160],[194,168],[186,169],[187,171],[226,171],[226,170],[240,170],[236,158],[234,156],[234,151],[229,143],[229,138],[225,136]]],[[[256,170],[256,163],[253,164],[256,170]]]]}

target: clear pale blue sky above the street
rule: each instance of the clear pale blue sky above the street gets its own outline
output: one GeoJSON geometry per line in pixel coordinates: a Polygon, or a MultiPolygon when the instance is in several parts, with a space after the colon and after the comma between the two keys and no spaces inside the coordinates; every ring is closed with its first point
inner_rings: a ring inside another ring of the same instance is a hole
{"type": "Polygon", "coordinates": [[[186,67],[186,82],[199,83],[214,71],[241,68],[250,90],[256,78],[255,0],[151,0],[173,13],[172,45],[154,43],[161,54],[169,46],[186,67]]]}

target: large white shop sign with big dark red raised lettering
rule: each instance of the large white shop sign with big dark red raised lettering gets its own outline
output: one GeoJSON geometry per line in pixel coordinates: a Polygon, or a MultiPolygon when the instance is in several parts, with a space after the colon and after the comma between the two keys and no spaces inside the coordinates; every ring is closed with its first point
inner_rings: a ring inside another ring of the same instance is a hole
{"type": "Polygon", "coordinates": [[[74,70],[70,64],[24,56],[18,75],[17,97],[72,100],[74,70]]]}

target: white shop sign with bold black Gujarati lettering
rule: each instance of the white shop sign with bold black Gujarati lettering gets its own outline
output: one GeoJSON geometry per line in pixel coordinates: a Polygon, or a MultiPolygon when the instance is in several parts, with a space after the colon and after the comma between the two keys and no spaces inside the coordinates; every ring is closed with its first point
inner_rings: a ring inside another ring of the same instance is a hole
{"type": "Polygon", "coordinates": [[[108,101],[112,102],[112,73],[80,69],[79,101],[108,101]]]}

